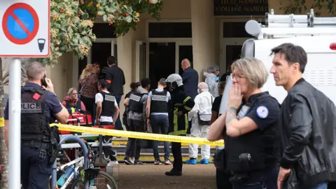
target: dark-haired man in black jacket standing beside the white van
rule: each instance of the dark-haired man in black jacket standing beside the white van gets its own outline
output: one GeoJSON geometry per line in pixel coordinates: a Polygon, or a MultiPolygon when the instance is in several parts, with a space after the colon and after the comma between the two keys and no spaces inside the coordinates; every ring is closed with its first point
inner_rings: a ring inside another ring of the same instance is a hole
{"type": "Polygon", "coordinates": [[[288,92],[279,120],[282,158],[278,189],[295,184],[295,188],[327,188],[336,181],[335,104],[302,78],[307,64],[302,47],[283,43],[273,48],[272,54],[270,72],[276,85],[288,92]]]}

